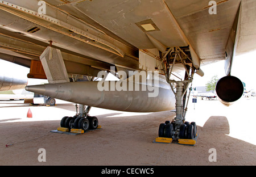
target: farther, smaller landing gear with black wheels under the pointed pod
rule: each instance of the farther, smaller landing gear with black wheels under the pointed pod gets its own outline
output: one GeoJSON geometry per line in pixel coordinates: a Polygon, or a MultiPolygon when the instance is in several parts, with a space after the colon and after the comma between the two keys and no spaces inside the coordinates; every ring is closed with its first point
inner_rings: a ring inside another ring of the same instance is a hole
{"type": "MultiPolygon", "coordinates": [[[[98,128],[98,119],[95,116],[89,116],[90,106],[79,105],[79,113],[73,117],[65,116],[60,121],[60,127],[70,129],[94,130],[98,128]]],[[[76,104],[77,111],[77,104],[76,104]]]]}

